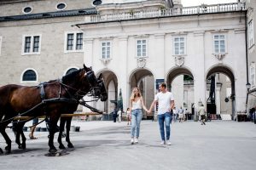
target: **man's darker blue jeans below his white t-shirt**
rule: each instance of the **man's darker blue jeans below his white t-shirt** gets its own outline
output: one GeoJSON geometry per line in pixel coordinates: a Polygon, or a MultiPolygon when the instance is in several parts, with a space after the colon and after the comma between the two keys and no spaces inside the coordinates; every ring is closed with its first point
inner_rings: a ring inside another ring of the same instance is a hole
{"type": "Polygon", "coordinates": [[[169,140],[171,135],[171,122],[172,116],[170,112],[158,115],[158,122],[160,127],[161,139],[163,141],[169,140]],[[165,138],[165,125],[166,125],[166,138],[165,138]]]}

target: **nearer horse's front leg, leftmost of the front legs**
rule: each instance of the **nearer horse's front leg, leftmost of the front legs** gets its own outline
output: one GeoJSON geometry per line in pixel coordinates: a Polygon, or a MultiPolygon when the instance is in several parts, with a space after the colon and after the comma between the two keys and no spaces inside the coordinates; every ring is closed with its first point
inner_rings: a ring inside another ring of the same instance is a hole
{"type": "Polygon", "coordinates": [[[49,152],[50,153],[55,153],[57,150],[54,145],[54,137],[55,137],[55,132],[56,132],[56,125],[58,122],[58,118],[53,117],[49,118],[49,152]]]}

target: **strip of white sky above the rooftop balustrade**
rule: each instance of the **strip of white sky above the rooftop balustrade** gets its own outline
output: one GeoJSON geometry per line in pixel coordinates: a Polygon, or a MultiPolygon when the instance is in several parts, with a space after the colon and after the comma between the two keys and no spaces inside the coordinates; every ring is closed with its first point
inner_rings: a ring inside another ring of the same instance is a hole
{"type": "Polygon", "coordinates": [[[216,4],[216,3],[237,3],[237,0],[181,0],[183,7],[197,6],[204,4],[216,4]]]}

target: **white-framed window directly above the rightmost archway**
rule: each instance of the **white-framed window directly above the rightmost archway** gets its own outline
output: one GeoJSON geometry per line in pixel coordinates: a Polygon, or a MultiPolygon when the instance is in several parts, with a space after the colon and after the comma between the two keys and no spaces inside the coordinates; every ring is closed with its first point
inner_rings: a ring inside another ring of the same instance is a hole
{"type": "Polygon", "coordinates": [[[214,54],[224,54],[226,52],[225,35],[213,36],[214,54]]]}

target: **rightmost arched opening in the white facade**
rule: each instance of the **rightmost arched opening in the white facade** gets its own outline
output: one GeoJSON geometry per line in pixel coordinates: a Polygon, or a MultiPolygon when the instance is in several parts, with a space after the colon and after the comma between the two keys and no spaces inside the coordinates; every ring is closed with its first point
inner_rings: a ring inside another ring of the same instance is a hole
{"type": "MultiPolygon", "coordinates": [[[[232,119],[234,120],[235,117],[235,110],[236,110],[236,99],[235,99],[235,77],[233,72],[230,70],[229,67],[225,65],[218,65],[212,67],[207,72],[206,82],[209,83],[209,80],[212,78],[214,81],[211,83],[211,85],[208,85],[209,88],[209,97],[207,97],[207,105],[213,102],[215,102],[215,113],[217,114],[217,118],[222,118],[225,120],[232,119]],[[225,77],[228,77],[229,80],[226,80],[225,77]],[[214,92],[211,88],[214,88],[214,92]],[[230,88],[230,95],[226,98],[224,96],[227,94],[228,88],[230,88]],[[214,93],[214,98],[212,98],[211,94],[214,93]],[[226,98],[226,99],[224,99],[226,98]],[[212,101],[211,101],[212,100],[212,101]],[[230,111],[228,109],[228,102],[230,102],[230,111]],[[225,111],[227,113],[224,113],[224,107],[226,108],[225,111]],[[230,116],[231,115],[231,116],[230,116]]],[[[211,80],[211,82],[212,82],[211,80]]],[[[212,107],[212,106],[211,106],[212,107]]],[[[207,106],[207,112],[209,111],[209,106],[207,106]]],[[[213,113],[213,114],[215,114],[213,113]]]]}

